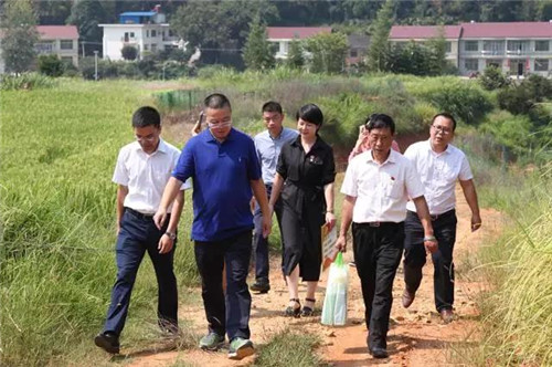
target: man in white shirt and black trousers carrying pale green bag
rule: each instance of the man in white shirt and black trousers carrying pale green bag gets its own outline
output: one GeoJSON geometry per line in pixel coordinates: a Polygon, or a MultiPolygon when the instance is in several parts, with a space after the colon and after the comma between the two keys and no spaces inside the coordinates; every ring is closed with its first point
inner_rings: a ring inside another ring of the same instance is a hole
{"type": "Polygon", "coordinates": [[[371,150],[349,162],[341,192],[346,195],[341,228],[336,247],[347,248],[347,231],[352,223],[354,262],[362,286],[368,348],[374,358],[386,358],[389,317],[393,303],[393,280],[404,244],[406,202],[412,198],[423,224],[423,242],[435,251],[424,187],[414,166],[391,150],[395,124],[384,114],[370,116],[367,124],[371,150]]]}

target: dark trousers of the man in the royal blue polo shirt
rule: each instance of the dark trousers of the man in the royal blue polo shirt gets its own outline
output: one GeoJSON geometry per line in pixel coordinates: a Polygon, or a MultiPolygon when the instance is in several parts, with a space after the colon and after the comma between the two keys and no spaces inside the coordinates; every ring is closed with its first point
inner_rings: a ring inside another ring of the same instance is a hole
{"type": "Polygon", "coordinates": [[[201,275],[201,295],[209,332],[229,339],[248,339],[251,294],[246,277],[251,258],[251,231],[232,238],[195,241],[195,262],[201,275]],[[222,270],[226,264],[226,292],[222,289],[222,270]]]}

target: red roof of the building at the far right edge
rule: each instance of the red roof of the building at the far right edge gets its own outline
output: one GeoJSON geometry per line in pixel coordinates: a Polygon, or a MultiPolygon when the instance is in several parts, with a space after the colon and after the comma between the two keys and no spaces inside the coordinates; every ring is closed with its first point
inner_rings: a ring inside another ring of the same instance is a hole
{"type": "Polygon", "coordinates": [[[471,38],[548,38],[552,22],[461,23],[463,39],[471,38]]]}

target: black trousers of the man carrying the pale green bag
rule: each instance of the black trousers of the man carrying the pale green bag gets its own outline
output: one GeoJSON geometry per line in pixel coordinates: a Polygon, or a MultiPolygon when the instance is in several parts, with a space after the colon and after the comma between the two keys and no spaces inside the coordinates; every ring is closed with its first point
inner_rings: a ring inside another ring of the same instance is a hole
{"type": "Polygon", "coordinates": [[[403,254],[404,223],[372,227],[353,222],[352,242],[364,298],[368,346],[386,348],[393,280],[403,254]]]}

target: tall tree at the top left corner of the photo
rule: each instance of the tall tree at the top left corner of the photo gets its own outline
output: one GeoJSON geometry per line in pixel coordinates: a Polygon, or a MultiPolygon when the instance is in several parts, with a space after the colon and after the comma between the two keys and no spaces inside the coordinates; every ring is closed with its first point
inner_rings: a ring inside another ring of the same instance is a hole
{"type": "Polygon", "coordinates": [[[39,41],[36,13],[31,0],[9,0],[4,2],[2,19],[2,54],[7,72],[22,73],[31,70],[39,41]]]}

